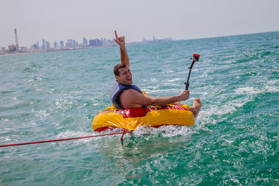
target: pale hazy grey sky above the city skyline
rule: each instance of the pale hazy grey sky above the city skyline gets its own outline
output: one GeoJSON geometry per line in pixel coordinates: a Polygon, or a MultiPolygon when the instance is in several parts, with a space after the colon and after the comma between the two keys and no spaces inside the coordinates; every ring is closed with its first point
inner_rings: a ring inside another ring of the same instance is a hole
{"type": "Polygon", "coordinates": [[[82,38],[188,40],[279,31],[279,0],[1,0],[0,47],[82,38]]]}

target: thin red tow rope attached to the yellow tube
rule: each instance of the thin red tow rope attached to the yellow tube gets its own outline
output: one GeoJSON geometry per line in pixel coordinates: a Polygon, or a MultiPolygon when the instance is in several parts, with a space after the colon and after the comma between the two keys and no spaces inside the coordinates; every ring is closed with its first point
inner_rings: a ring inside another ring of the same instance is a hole
{"type": "Polygon", "coordinates": [[[114,132],[110,134],[100,134],[100,135],[95,135],[95,136],[88,136],[88,137],[73,137],[73,138],[65,138],[65,139],[52,139],[52,140],[45,140],[45,141],[33,141],[33,142],[27,142],[27,143],[21,143],[21,144],[6,144],[6,145],[0,145],[1,147],[6,147],[6,146],[24,146],[24,145],[29,145],[29,144],[43,144],[43,143],[49,143],[49,142],[54,142],[54,141],[66,141],[66,140],[72,140],[72,139],[83,139],[83,138],[89,138],[89,137],[103,137],[103,136],[109,136],[109,135],[115,135],[115,134],[122,134],[121,136],[121,141],[123,141],[123,136],[129,132],[129,130],[124,130],[123,132],[114,132]]]}

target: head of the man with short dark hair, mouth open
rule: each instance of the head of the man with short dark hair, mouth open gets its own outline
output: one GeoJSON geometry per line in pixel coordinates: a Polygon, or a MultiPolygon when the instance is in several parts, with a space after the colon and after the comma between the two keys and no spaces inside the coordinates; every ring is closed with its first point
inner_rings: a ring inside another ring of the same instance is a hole
{"type": "Polygon", "coordinates": [[[114,77],[119,84],[132,85],[132,73],[129,66],[124,63],[119,63],[114,67],[114,77]]]}

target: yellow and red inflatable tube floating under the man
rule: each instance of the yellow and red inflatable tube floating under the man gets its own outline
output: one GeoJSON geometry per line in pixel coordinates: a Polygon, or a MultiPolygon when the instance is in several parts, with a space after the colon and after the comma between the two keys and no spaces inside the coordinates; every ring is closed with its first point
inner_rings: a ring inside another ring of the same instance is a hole
{"type": "Polygon", "coordinates": [[[101,132],[108,127],[119,127],[126,130],[136,130],[137,127],[147,125],[160,127],[162,125],[194,125],[195,116],[188,105],[167,107],[146,107],[133,109],[116,109],[108,107],[99,111],[93,118],[93,131],[101,132]]]}

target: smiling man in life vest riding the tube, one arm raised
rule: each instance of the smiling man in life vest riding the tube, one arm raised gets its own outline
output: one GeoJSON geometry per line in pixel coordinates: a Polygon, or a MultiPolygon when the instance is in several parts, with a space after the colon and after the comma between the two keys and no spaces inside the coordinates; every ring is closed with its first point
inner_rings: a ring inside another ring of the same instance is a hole
{"type": "MultiPolygon", "coordinates": [[[[112,90],[110,92],[110,98],[114,107],[119,109],[137,108],[144,106],[166,106],[167,104],[181,105],[181,101],[189,98],[189,91],[182,91],[179,95],[172,97],[160,97],[153,98],[149,95],[144,95],[140,88],[133,85],[132,73],[130,72],[130,61],[128,52],[125,46],[125,37],[118,37],[116,31],[115,42],[120,47],[121,63],[115,65],[114,76],[116,82],[112,84],[112,90]]],[[[202,107],[202,102],[199,98],[195,98],[193,107],[190,107],[190,111],[197,117],[199,110],[202,107]]]]}

